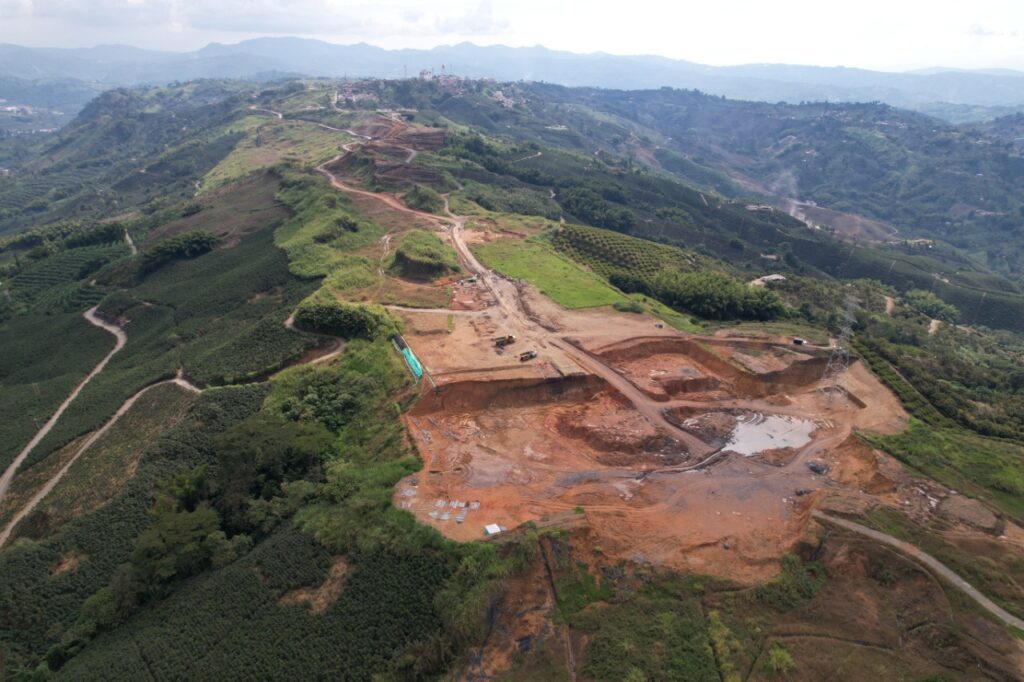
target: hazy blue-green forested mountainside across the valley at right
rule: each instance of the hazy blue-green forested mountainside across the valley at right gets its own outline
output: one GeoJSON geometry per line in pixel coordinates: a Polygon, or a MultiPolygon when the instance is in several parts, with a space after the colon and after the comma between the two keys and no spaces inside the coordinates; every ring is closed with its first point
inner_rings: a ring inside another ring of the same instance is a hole
{"type": "Polygon", "coordinates": [[[559,106],[571,127],[589,123],[573,105],[635,124],[634,134],[647,139],[616,140],[616,151],[645,154],[690,181],[711,168],[752,195],[872,218],[891,226],[893,239],[941,240],[1013,279],[1024,272],[1015,117],[982,132],[883,104],[763,104],[673,90],[540,94],[541,106],[559,106]]]}

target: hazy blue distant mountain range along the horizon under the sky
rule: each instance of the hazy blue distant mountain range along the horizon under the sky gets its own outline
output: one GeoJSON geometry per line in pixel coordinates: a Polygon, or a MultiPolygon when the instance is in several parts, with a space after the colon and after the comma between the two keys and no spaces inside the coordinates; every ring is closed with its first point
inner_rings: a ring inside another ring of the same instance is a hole
{"type": "MultiPolygon", "coordinates": [[[[123,45],[78,49],[0,45],[0,82],[20,80],[23,88],[25,81],[41,84],[55,79],[83,81],[93,90],[100,90],[197,78],[401,78],[415,76],[423,69],[440,72],[442,66],[445,72],[457,75],[503,81],[621,89],[669,86],[760,101],[883,101],[954,122],[1024,111],[1024,73],[1009,70],[884,73],[787,65],[710,67],[658,56],[575,54],[545,47],[462,43],[433,49],[388,50],[302,38],[213,43],[194,52],[123,45]]],[[[0,97],[6,97],[4,89],[0,85],[0,97]]]]}

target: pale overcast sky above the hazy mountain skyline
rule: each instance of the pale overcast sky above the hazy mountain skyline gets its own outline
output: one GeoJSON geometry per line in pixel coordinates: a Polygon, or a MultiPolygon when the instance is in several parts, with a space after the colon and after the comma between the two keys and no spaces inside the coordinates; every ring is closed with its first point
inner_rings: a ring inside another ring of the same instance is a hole
{"type": "Polygon", "coordinates": [[[0,0],[0,42],[191,50],[294,35],[545,45],[712,65],[1024,70],[1024,0],[0,0]]]}

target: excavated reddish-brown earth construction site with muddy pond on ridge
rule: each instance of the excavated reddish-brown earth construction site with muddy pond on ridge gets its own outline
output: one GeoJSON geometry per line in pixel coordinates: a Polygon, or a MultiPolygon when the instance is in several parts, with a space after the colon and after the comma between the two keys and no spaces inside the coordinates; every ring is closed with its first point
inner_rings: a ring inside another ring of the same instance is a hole
{"type": "MultiPolygon", "coordinates": [[[[356,128],[375,137],[373,159],[409,160],[436,144],[393,122],[376,125],[356,128]]],[[[371,191],[341,175],[360,163],[352,154],[322,172],[391,226],[382,257],[402,229],[428,227],[463,270],[404,283],[450,288],[446,307],[391,306],[426,373],[404,417],[424,466],[395,489],[396,506],[422,522],[460,541],[526,522],[585,523],[609,559],[755,582],[777,572],[822,492],[856,499],[894,489],[883,456],[853,433],[896,432],[906,414],[861,364],[828,394],[827,346],[697,336],[649,315],[561,308],[472,251],[514,238],[449,210],[415,211],[400,190],[371,191]]]]}

